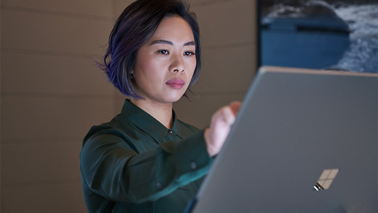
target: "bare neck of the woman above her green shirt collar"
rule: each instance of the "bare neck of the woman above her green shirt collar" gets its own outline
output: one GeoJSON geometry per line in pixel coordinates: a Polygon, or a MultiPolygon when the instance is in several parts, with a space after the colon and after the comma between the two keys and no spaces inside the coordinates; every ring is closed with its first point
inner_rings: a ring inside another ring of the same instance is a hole
{"type": "Polygon", "coordinates": [[[172,103],[157,103],[150,100],[130,99],[130,102],[153,116],[164,127],[171,129],[173,126],[172,103]]]}

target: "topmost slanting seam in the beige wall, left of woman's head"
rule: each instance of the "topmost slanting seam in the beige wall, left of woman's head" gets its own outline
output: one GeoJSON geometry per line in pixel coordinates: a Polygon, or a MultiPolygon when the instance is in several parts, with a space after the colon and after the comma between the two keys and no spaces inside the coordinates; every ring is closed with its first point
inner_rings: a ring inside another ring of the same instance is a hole
{"type": "Polygon", "coordinates": [[[39,14],[39,15],[50,15],[50,16],[57,16],[57,17],[77,18],[77,19],[94,20],[94,21],[104,21],[104,22],[109,22],[109,23],[114,22],[113,17],[111,17],[111,16],[100,16],[100,15],[90,15],[90,14],[81,14],[81,13],[69,13],[69,12],[62,12],[62,11],[36,9],[36,8],[28,8],[28,7],[19,7],[19,6],[4,5],[4,4],[1,4],[1,8],[4,9],[4,10],[12,10],[12,11],[33,13],[33,14],[39,14]]]}

